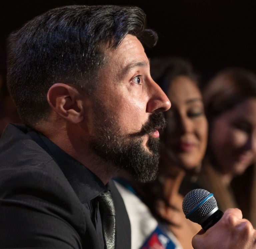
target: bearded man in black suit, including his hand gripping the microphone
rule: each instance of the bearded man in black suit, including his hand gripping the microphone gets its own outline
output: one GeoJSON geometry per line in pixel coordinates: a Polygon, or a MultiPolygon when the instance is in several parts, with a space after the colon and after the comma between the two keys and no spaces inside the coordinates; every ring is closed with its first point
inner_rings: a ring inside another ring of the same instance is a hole
{"type": "MultiPolygon", "coordinates": [[[[170,108],[142,46],[156,37],[141,9],[111,5],[49,10],[10,35],[7,85],[23,124],[1,136],[0,248],[130,248],[111,178],[156,175],[170,108]]],[[[224,214],[195,248],[253,248],[240,216],[224,214]]]]}

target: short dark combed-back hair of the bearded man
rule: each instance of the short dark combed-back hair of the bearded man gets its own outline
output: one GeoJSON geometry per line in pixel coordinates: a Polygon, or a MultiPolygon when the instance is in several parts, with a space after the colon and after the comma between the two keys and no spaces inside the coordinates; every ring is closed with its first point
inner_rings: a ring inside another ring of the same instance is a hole
{"type": "Polygon", "coordinates": [[[146,29],[138,7],[72,5],[52,9],[10,34],[7,86],[24,124],[47,119],[49,88],[74,84],[90,94],[97,71],[106,63],[104,46],[116,49],[127,34],[154,46],[157,34],[146,29]]]}

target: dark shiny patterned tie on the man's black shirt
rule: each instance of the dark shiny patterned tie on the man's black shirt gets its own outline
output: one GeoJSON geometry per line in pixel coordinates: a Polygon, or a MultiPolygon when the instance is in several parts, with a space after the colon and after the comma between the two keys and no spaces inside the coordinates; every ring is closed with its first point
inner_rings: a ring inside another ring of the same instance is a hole
{"type": "Polygon", "coordinates": [[[101,214],[103,236],[106,249],[116,248],[116,217],[115,207],[110,191],[105,190],[97,197],[101,214]]]}

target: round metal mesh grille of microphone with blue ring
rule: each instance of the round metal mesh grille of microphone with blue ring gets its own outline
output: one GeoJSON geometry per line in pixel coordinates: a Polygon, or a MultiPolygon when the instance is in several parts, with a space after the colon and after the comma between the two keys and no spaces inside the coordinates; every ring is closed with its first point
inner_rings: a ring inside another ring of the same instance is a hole
{"type": "Polygon", "coordinates": [[[210,195],[210,192],[200,188],[193,189],[188,192],[182,202],[182,209],[184,214],[186,215],[186,218],[200,224],[200,221],[214,208],[217,207],[217,202],[215,198],[213,197],[213,195],[210,195]],[[206,199],[207,197],[208,199],[206,199]],[[202,202],[204,199],[206,199],[206,201],[202,202]],[[200,204],[200,202],[202,203],[200,204]],[[193,211],[193,209],[195,210],[193,211]],[[188,214],[189,217],[187,217],[188,214]]]}

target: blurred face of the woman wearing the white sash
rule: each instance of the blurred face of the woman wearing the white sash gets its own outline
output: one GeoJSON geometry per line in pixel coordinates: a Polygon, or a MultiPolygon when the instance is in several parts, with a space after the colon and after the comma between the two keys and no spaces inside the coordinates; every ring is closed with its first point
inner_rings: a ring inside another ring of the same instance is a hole
{"type": "Polygon", "coordinates": [[[188,77],[175,78],[168,90],[172,106],[167,111],[164,150],[173,163],[185,170],[200,165],[207,144],[208,124],[201,93],[188,77]]]}

